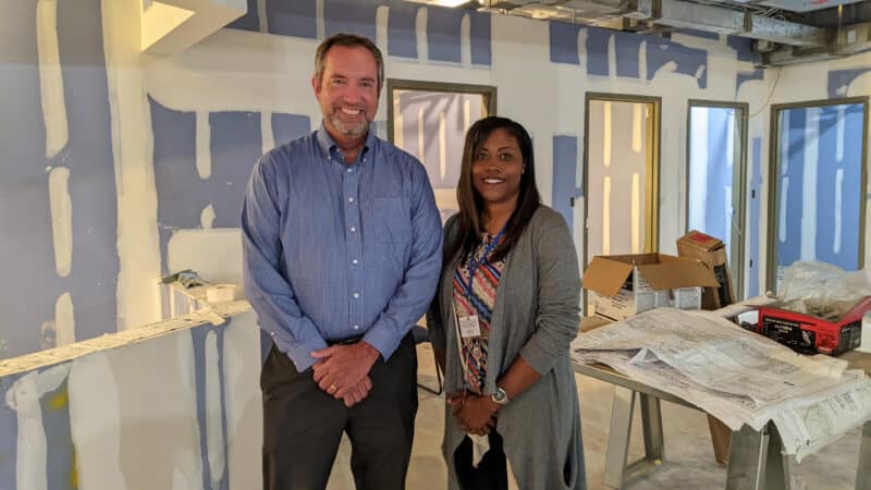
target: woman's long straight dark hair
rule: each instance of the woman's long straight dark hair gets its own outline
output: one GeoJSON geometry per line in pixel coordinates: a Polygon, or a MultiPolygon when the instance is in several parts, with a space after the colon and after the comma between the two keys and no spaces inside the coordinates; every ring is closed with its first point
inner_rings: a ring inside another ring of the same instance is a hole
{"type": "Polygon", "coordinates": [[[532,156],[532,138],[520,124],[507,119],[491,115],[477,121],[466,133],[466,144],[463,148],[463,163],[459,170],[459,183],[456,187],[456,200],[459,204],[458,225],[459,232],[456,240],[449,244],[445,250],[446,260],[451,260],[457,253],[463,256],[481,243],[481,234],[484,233],[481,223],[483,212],[483,200],[475,189],[471,176],[471,168],[475,162],[475,154],[480,146],[487,142],[495,130],[505,130],[510,135],[517,139],[520,155],[524,159],[524,172],[520,174],[520,193],[517,196],[517,207],[514,209],[505,228],[505,235],[502,244],[493,252],[490,261],[498,261],[504,258],[511,248],[517,243],[532,215],[541,204],[541,198],[536,186],[536,166],[532,156]]]}

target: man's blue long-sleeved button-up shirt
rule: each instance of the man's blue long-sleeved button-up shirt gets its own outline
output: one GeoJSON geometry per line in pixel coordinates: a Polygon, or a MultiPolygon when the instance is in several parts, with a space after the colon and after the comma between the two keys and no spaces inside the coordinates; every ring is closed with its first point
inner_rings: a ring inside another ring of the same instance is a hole
{"type": "Polygon", "coordinates": [[[424,315],[442,261],[427,171],[372,132],[346,163],[321,126],[254,168],[242,208],[245,291],[298,371],[363,335],[388,359],[424,315]]]}

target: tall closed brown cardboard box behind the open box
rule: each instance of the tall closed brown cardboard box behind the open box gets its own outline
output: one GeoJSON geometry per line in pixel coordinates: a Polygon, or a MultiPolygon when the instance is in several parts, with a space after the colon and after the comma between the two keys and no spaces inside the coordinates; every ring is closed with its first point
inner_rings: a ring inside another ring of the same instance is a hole
{"type": "Polygon", "coordinates": [[[735,290],[732,287],[726,245],[722,240],[692,230],[677,238],[677,256],[699,260],[714,272],[717,286],[706,287],[702,308],[717,309],[735,303],[735,290]]]}

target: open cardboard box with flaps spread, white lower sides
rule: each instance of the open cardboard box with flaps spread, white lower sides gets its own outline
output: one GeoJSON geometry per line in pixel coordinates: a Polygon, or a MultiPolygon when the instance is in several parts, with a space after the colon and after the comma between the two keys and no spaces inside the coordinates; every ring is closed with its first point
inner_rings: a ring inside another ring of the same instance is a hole
{"type": "Polygon", "coordinates": [[[665,254],[593,257],[582,281],[593,314],[615,321],[660,306],[699,309],[702,286],[717,285],[703,264],[665,254]]]}

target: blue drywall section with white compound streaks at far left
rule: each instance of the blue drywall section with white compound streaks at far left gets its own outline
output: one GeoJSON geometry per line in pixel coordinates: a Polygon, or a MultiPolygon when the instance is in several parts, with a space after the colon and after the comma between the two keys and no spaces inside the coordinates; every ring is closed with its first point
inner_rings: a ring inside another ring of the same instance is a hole
{"type": "Polygon", "coordinates": [[[4,1],[0,17],[8,356],[114,331],[119,260],[100,2],[4,1]]]}

